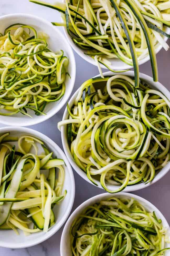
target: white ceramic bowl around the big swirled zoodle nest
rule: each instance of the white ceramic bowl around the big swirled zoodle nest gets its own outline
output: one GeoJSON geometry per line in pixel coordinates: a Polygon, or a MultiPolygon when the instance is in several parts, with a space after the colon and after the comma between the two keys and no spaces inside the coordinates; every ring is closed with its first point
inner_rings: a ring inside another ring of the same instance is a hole
{"type": "MultiPolygon", "coordinates": [[[[112,76],[116,73],[112,73],[112,72],[105,72],[103,75],[104,76],[112,76]]],[[[127,75],[127,76],[132,76],[134,77],[134,71],[126,71],[126,72],[121,72],[119,74],[124,74],[124,75],[127,75]]],[[[99,76],[99,75],[98,75],[99,76]]],[[[160,82],[154,82],[152,77],[150,76],[147,76],[145,74],[142,74],[140,73],[140,78],[147,81],[149,84],[150,84],[150,87],[151,88],[155,88],[156,90],[159,90],[161,91],[164,95],[166,95],[166,97],[169,99],[170,98],[170,92],[160,83],[160,82]]],[[[78,89],[79,90],[79,89],[78,89]]],[[[73,94],[73,96],[71,97],[70,101],[69,101],[69,107],[71,108],[73,103],[74,103],[74,100],[78,94],[78,90],[73,94]]],[[[69,116],[69,113],[67,111],[67,108],[65,109],[64,111],[64,115],[63,115],[63,120],[66,120],[69,116]]],[[[61,127],[61,139],[62,139],[62,143],[63,143],[63,148],[64,148],[64,151],[65,151],[65,154],[67,156],[67,158],[69,159],[70,161],[70,164],[72,165],[72,167],[75,169],[75,171],[86,181],[88,181],[89,183],[93,184],[87,177],[86,173],[84,173],[83,170],[80,169],[80,167],[78,167],[78,165],[76,164],[76,162],[74,161],[74,158],[70,152],[70,148],[69,148],[69,144],[68,144],[68,141],[67,141],[67,134],[66,134],[66,125],[65,126],[62,126],[61,127]]],[[[139,183],[139,184],[136,184],[136,185],[132,185],[132,186],[127,186],[124,191],[134,191],[134,190],[139,190],[139,189],[143,189],[144,187],[147,187],[153,183],[155,183],[156,181],[158,181],[159,179],[161,179],[170,169],[170,162],[164,167],[162,168],[162,170],[156,174],[156,176],[154,177],[154,179],[149,182],[148,184],[144,184],[144,183],[139,183]]],[[[102,188],[103,187],[101,186],[100,184],[100,181],[95,179],[93,177],[94,181],[98,184],[98,187],[102,188]]],[[[93,184],[94,185],[94,184],[93,184]]],[[[95,185],[94,185],[95,186],[95,185]]],[[[116,185],[107,185],[107,187],[110,189],[110,190],[115,190],[117,189],[118,186],[116,185]]]]}

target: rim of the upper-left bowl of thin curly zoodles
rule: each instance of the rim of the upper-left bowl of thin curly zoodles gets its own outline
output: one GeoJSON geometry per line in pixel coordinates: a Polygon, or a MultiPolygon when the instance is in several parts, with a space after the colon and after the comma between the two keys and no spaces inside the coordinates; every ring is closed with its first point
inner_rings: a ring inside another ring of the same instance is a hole
{"type": "MultiPolygon", "coordinates": [[[[39,118],[34,118],[34,119],[28,119],[28,122],[24,122],[24,121],[19,121],[17,120],[17,117],[13,116],[14,118],[16,118],[16,121],[15,121],[15,126],[31,126],[31,125],[35,125],[35,124],[38,124],[38,123],[42,123],[46,120],[48,120],[49,118],[51,118],[52,116],[54,116],[56,113],[58,113],[58,111],[65,105],[65,103],[68,101],[71,93],[72,93],[72,90],[73,90],[73,87],[74,87],[74,84],[75,84],[75,79],[76,79],[76,61],[75,61],[75,56],[74,56],[74,53],[73,53],[73,50],[71,48],[71,45],[68,43],[67,41],[67,38],[64,36],[64,34],[56,27],[56,26],[53,26],[48,20],[46,19],[43,19],[39,16],[36,16],[36,15],[32,15],[32,14],[27,14],[27,13],[13,13],[13,14],[7,14],[7,15],[3,15],[0,17],[0,22],[1,20],[3,20],[4,18],[14,18],[14,17],[21,17],[21,18],[32,18],[32,19],[35,19],[35,20],[38,20],[40,23],[43,22],[43,23],[46,23],[47,26],[50,26],[51,28],[53,28],[55,31],[56,31],[56,34],[60,37],[60,40],[62,40],[64,42],[64,44],[67,46],[67,52],[69,53],[70,55],[70,58],[69,58],[69,62],[70,62],[70,65],[71,65],[71,69],[72,69],[72,75],[71,75],[71,79],[70,79],[70,86],[68,87],[68,90],[69,90],[69,93],[65,94],[64,95],[67,95],[65,100],[63,100],[63,97],[61,98],[61,100],[59,101],[58,105],[54,105],[51,109],[51,113],[49,114],[49,112],[46,113],[46,115],[44,116],[39,116],[39,118]],[[29,123],[29,124],[27,124],[29,123]]],[[[22,117],[21,117],[22,118],[22,117]]],[[[9,125],[9,126],[13,126],[13,122],[11,121],[8,121],[8,116],[7,116],[7,121],[0,121],[0,123],[2,124],[5,124],[5,125],[9,125]]]]}

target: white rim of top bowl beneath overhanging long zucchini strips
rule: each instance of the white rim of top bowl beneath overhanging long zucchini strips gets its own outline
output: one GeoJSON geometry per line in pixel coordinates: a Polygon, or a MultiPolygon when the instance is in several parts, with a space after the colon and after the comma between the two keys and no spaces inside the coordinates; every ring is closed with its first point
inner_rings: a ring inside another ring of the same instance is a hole
{"type": "MultiPolygon", "coordinates": [[[[62,19],[62,18],[61,18],[61,19],[62,19]]],[[[82,50],[81,48],[79,48],[79,47],[73,42],[73,40],[71,39],[70,35],[67,33],[66,27],[63,27],[63,30],[64,30],[64,34],[65,34],[65,36],[66,36],[66,38],[67,38],[67,41],[69,42],[69,44],[71,45],[71,47],[75,50],[75,52],[76,52],[79,56],[81,56],[81,58],[83,58],[84,60],[86,60],[87,62],[93,64],[94,66],[97,66],[96,61],[95,61],[93,58],[91,58],[90,56],[85,55],[84,52],[83,52],[83,50],[82,50]]],[[[168,27],[166,28],[166,33],[168,33],[168,34],[170,33],[170,28],[168,28],[168,27]]],[[[166,36],[163,36],[163,40],[164,40],[165,42],[167,42],[168,38],[167,38],[166,36]]],[[[157,54],[162,48],[163,48],[163,46],[159,43],[158,47],[157,47],[156,50],[155,50],[155,53],[157,54]]],[[[118,60],[119,60],[119,59],[118,59],[118,60]]],[[[141,64],[144,64],[144,63],[147,62],[148,60],[150,60],[149,54],[148,54],[147,56],[145,56],[143,59],[141,59],[141,60],[138,62],[138,63],[139,63],[139,66],[140,66],[141,64]]],[[[122,61],[122,62],[123,62],[123,61],[122,61]]],[[[100,67],[101,67],[102,69],[107,69],[107,67],[104,66],[103,64],[99,63],[99,65],[100,65],[100,67]]],[[[132,66],[126,64],[125,62],[123,62],[123,65],[124,65],[124,67],[123,67],[123,69],[121,69],[121,70],[126,70],[126,69],[132,69],[132,68],[133,68],[132,66]]],[[[120,68],[116,68],[115,65],[110,65],[110,67],[111,67],[111,69],[113,69],[113,70],[120,70],[120,68]]],[[[108,70],[108,69],[107,69],[107,70],[108,70]]]]}

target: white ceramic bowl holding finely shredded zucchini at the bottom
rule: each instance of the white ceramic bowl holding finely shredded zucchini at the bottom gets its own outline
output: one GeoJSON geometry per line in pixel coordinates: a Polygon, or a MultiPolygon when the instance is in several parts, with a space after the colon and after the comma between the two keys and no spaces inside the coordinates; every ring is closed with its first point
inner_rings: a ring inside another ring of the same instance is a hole
{"type": "MultiPolygon", "coordinates": [[[[73,213],[71,214],[71,216],[69,217],[69,219],[67,220],[67,222],[65,224],[65,227],[63,229],[63,233],[61,236],[61,243],[60,243],[61,256],[72,255],[71,241],[70,241],[70,229],[71,229],[71,225],[72,225],[73,221],[75,220],[75,218],[77,218],[82,213],[82,211],[89,205],[93,205],[94,203],[100,202],[101,200],[107,200],[107,198],[110,198],[110,197],[111,197],[111,195],[109,193],[104,193],[104,194],[94,196],[92,198],[89,198],[87,201],[85,201],[80,206],[78,206],[78,208],[75,211],[73,211],[73,213]]],[[[148,210],[149,212],[155,211],[156,216],[162,220],[163,227],[167,227],[167,234],[169,233],[170,228],[169,228],[168,222],[166,221],[165,217],[149,201],[145,200],[144,198],[142,198],[140,196],[130,194],[130,193],[124,193],[124,192],[116,193],[116,194],[114,194],[114,197],[119,197],[119,198],[132,198],[133,197],[135,200],[137,200],[139,203],[141,203],[141,205],[143,205],[146,208],[146,210],[148,210]]],[[[169,247],[169,245],[170,244],[166,243],[165,247],[169,247]]],[[[169,251],[166,251],[164,256],[168,256],[168,255],[169,255],[169,251]]]]}

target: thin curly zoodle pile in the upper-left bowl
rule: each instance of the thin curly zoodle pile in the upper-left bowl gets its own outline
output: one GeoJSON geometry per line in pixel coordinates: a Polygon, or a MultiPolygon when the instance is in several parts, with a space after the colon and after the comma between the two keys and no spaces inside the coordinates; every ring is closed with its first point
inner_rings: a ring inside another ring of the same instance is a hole
{"type": "Polygon", "coordinates": [[[0,34],[0,115],[45,115],[46,105],[63,97],[68,59],[49,50],[46,39],[23,24],[0,34]]]}

